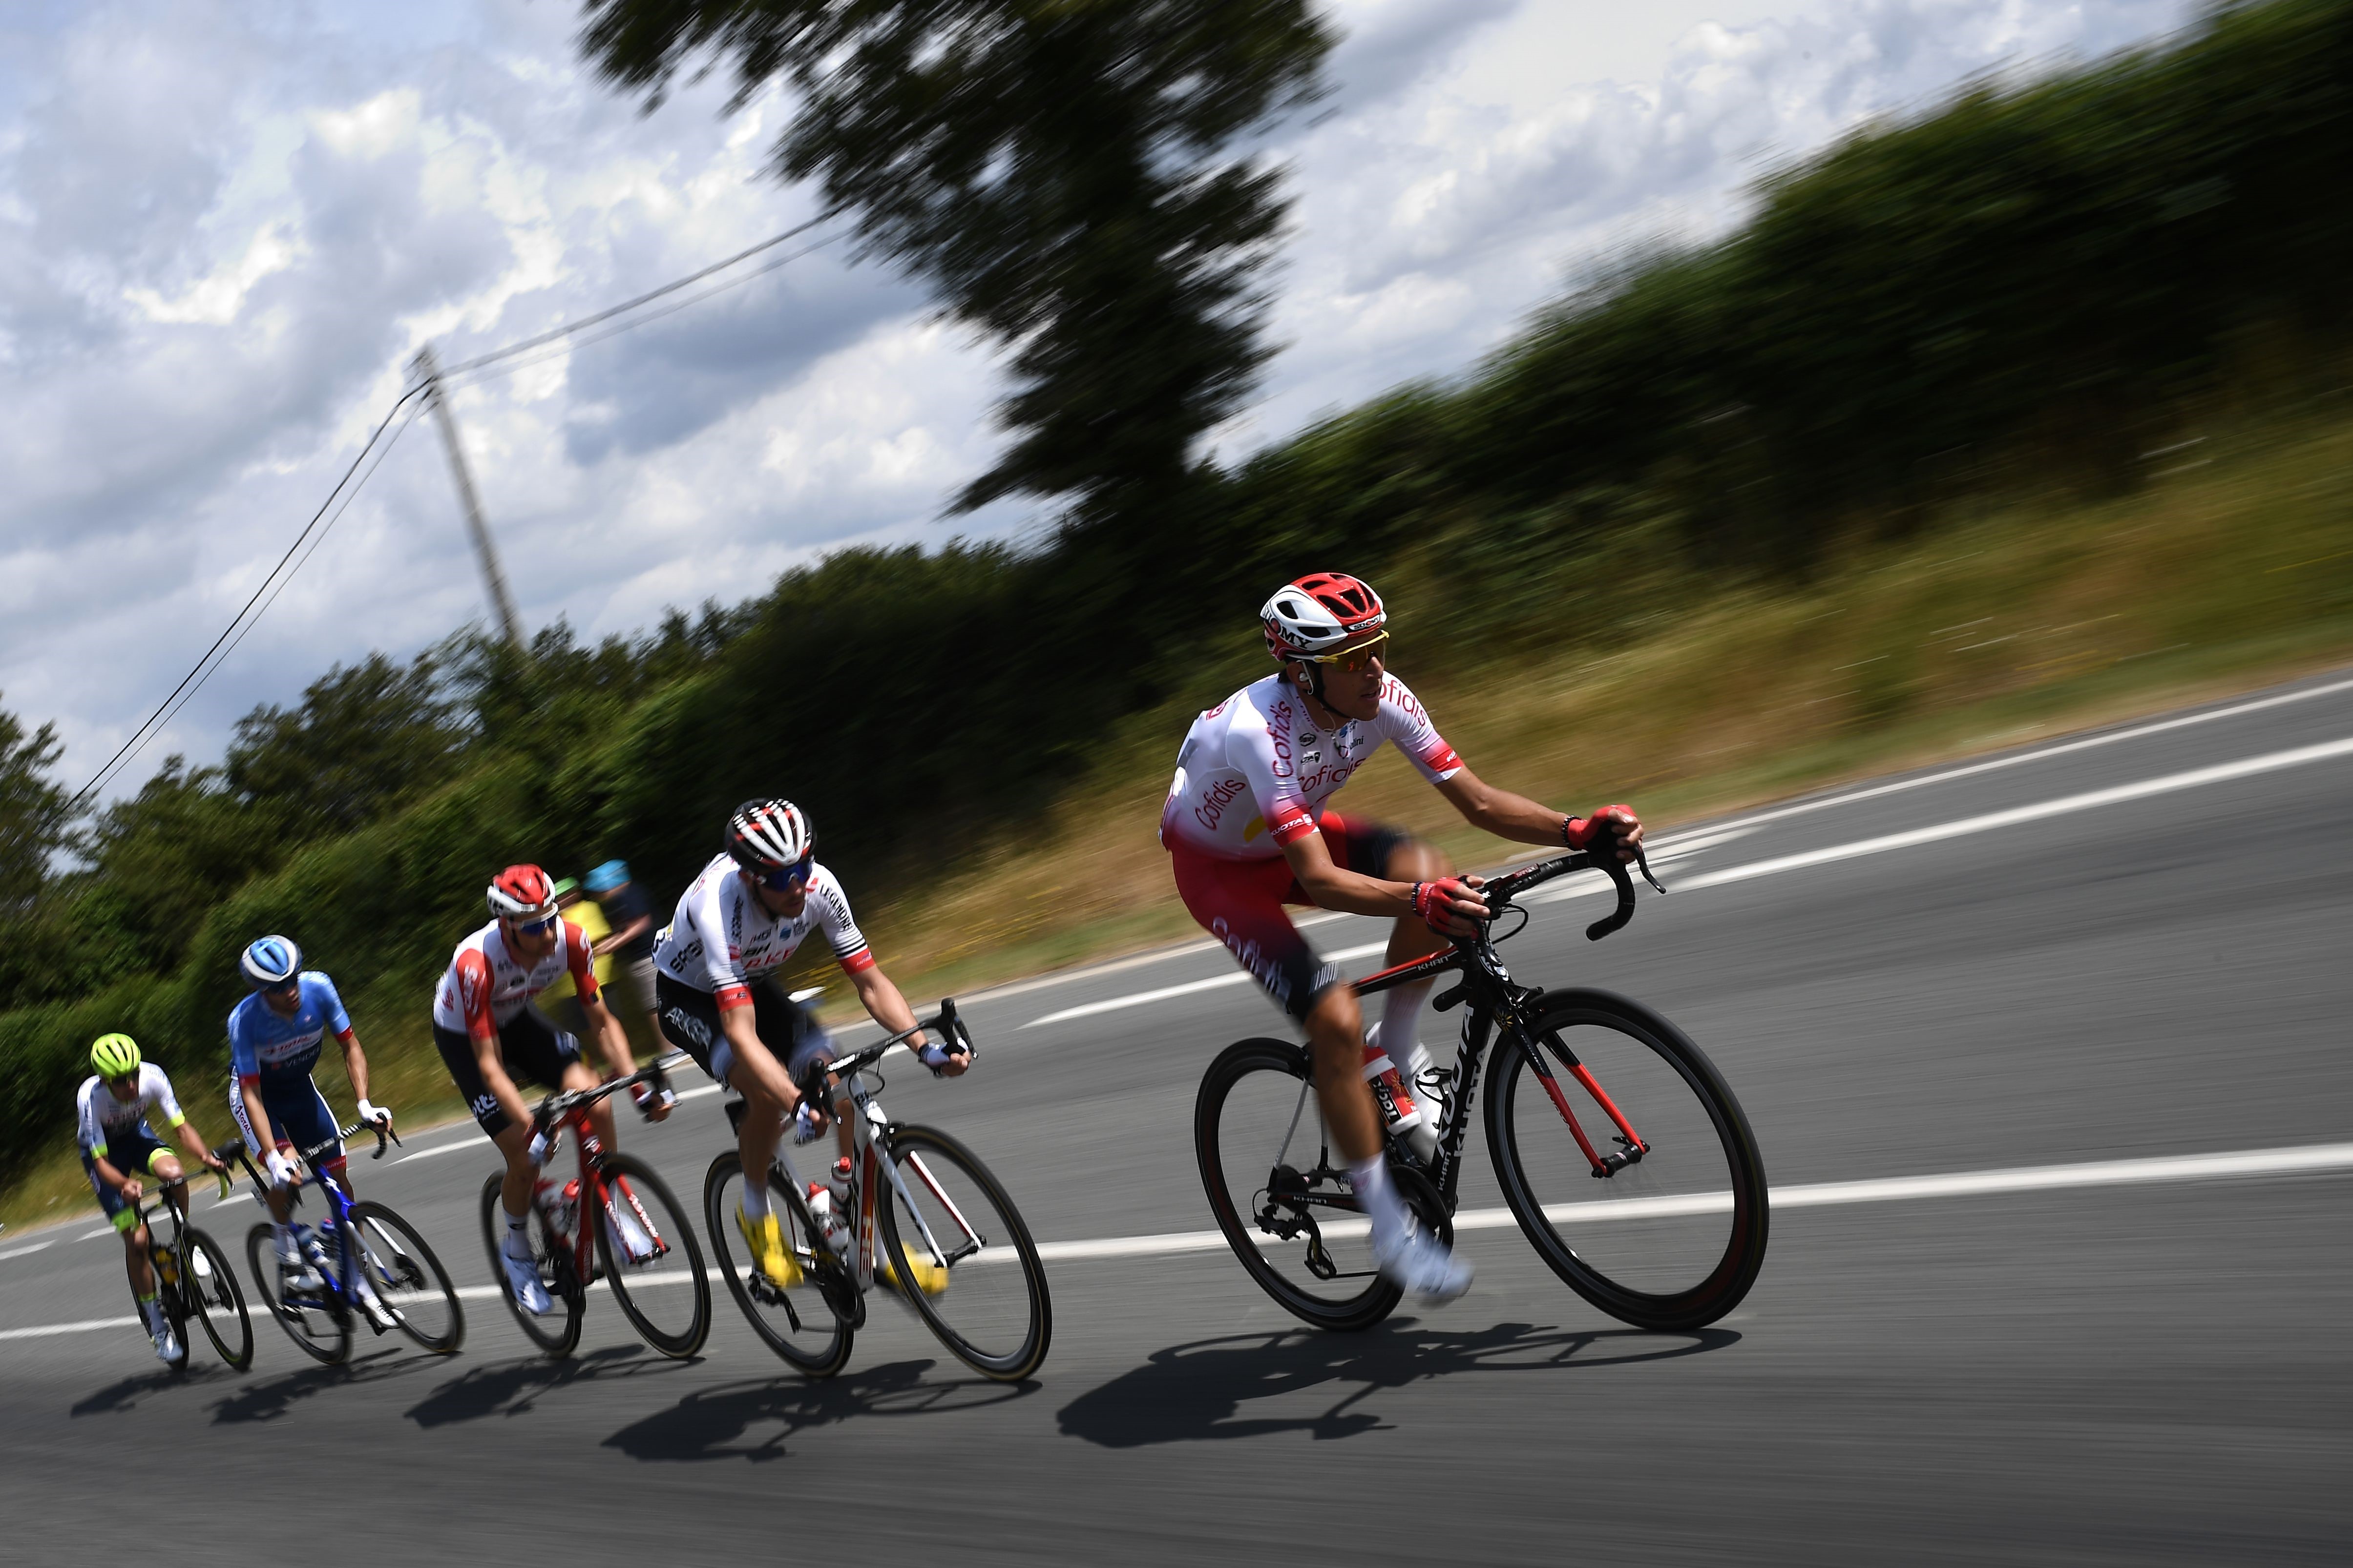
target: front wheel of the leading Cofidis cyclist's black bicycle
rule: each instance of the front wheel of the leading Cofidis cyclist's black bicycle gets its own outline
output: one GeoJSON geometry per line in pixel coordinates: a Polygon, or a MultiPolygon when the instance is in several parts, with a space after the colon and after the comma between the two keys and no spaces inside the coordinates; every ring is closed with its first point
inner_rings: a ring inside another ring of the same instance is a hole
{"type": "Polygon", "coordinates": [[[1765,1267],[1765,1159],[1682,1030],[1626,997],[1572,990],[1546,997],[1529,1039],[1504,1034],[1489,1060],[1487,1147],[1504,1201],[1572,1291],[1659,1331],[1701,1328],[1748,1295],[1765,1267]],[[1624,1164],[1595,1180],[1577,1131],[1624,1164]]]}

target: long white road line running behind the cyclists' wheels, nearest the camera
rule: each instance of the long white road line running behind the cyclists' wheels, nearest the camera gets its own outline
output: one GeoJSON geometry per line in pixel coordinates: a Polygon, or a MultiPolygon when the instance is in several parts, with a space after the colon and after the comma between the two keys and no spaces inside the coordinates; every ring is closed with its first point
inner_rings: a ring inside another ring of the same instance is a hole
{"type": "MultiPolygon", "coordinates": [[[[2308,1143],[2285,1150],[2238,1150],[2231,1154],[2155,1154],[2148,1159],[2094,1159],[2073,1166],[2014,1166],[2007,1171],[1951,1171],[1944,1175],[1892,1175],[1859,1182],[1802,1182],[1774,1187],[1774,1208],[1828,1208],[1840,1204],[1894,1204],[1948,1197],[1998,1197],[2009,1192],[2059,1192],[2068,1187],[2132,1187],[2151,1182],[2209,1182],[2228,1178],[2261,1175],[2313,1175],[2327,1171],[2353,1171],[2353,1143],[2308,1143]]],[[[1729,1192],[1692,1192],[1678,1197],[1642,1197],[1588,1204],[1551,1204],[1546,1218],[1555,1225],[1598,1220],[1659,1220],[1689,1213],[1715,1213],[1732,1204],[1729,1192]]],[[[1506,1229],[1515,1225],[1508,1208],[1466,1208],[1454,1215],[1454,1229],[1506,1229]]],[[[1327,1237],[1355,1237],[1365,1232],[1365,1220],[1334,1220],[1320,1227],[1327,1237]]],[[[1042,1241],[1042,1262],[1094,1262],[1104,1258],[1172,1258],[1179,1253],[1214,1253],[1226,1246],[1224,1232],[1176,1229],[1155,1237],[1104,1237],[1096,1241],[1042,1241]]],[[[1012,1248],[988,1248],[976,1260],[1009,1260],[1012,1248]]],[[[713,1267],[704,1276],[725,1284],[713,1267]]],[[[668,1269],[631,1281],[633,1288],[680,1286],[692,1274],[668,1269]]],[[[496,1300],[501,1286],[459,1286],[459,1300],[496,1300]]],[[[59,1333],[89,1333],[96,1328],[134,1328],[134,1316],[94,1316],[78,1324],[38,1324],[31,1328],[0,1328],[0,1340],[38,1340],[59,1333]]]]}

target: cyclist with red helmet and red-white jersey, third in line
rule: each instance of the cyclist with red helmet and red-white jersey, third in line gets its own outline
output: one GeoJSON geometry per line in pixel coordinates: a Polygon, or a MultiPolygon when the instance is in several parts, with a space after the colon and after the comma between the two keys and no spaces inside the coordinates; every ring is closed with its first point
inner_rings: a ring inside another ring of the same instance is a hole
{"type": "MultiPolygon", "coordinates": [[[[532,1260],[527,1227],[532,1182],[548,1143],[534,1135],[532,1107],[515,1079],[562,1091],[595,1088],[598,1079],[581,1063],[579,1041],[548,1023],[532,997],[555,985],[555,976],[569,973],[612,1077],[628,1077],[638,1065],[621,1020],[598,994],[588,938],[555,910],[548,875],[536,865],[508,865],[492,879],[487,900],[494,919],[456,945],[433,992],[433,1044],[473,1107],[473,1119],[506,1157],[506,1182],[499,1187],[506,1211],[506,1284],[525,1312],[541,1314],[551,1302],[532,1260]]],[[[633,1093],[647,1119],[671,1114],[668,1091],[638,1084],[633,1093]]],[[[612,1128],[612,1100],[600,1100],[588,1114],[605,1147],[621,1147],[612,1128]]]]}

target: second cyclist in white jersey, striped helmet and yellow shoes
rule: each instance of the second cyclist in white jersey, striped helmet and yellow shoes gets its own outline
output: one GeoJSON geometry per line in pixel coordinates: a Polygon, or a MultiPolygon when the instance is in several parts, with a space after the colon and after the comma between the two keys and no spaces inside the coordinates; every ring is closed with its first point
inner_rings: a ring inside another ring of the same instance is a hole
{"type": "MultiPolygon", "coordinates": [[[[784,1288],[800,1284],[800,1262],[767,1206],[767,1166],[776,1159],[784,1119],[800,1110],[793,1079],[812,1063],[831,1060],[833,1041],[774,976],[812,931],[826,933],[826,945],[875,1023],[892,1034],[915,1027],[906,997],[875,964],[866,936],[849,917],[842,884],[816,863],[809,818],[788,799],[748,799],[734,809],[725,851],[701,870],[654,943],[661,1032],[692,1053],[704,1072],[744,1095],[744,1124],[736,1128],[744,1208],[736,1227],[760,1272],[784,1288]]],[[[911,1034],[906,1044],[939,1074],[958,1077],[972,1060],[962,1051],[951,1056],[922,1034],[911,1034]]],[[[821,1126],[824,1107],[812,1105],[809,1112],[809,1121],[821,1126]]],[[[835,1215],[849,1187],[849,1159],[845,1124],[831,1187],[821,1194],[821,1185],[812,1185],[809,1192],[812,1201],[831,1199],[835,1215]]],[[[826,1239],[847,1246],[847,1227],[826,1239]]],[[[934,1274],[915,1286],[936,1295],[946,1286],[946,1272],[934,1265],[934,1274]]]]}

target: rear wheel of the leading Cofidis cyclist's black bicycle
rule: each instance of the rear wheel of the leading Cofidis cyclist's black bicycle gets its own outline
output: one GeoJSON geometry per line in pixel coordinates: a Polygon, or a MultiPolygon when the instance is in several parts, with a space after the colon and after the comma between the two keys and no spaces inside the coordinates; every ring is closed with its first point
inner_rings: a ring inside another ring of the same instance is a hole
{"type": "Polygon", "coordinates": [[[1318,1328],[1372,1328],[1398,1307],[1402,1291],[1372,1265],[1372,1227],[1325,1133],[1306,1046],[1226,1046],[1193,1103],[1193,1157],[1226,1244],[1285,1312],[1318,1328]]]}

